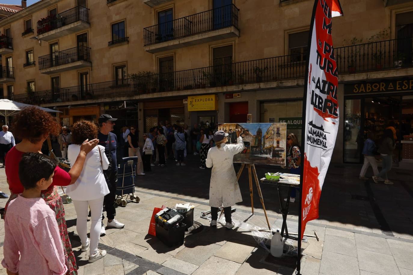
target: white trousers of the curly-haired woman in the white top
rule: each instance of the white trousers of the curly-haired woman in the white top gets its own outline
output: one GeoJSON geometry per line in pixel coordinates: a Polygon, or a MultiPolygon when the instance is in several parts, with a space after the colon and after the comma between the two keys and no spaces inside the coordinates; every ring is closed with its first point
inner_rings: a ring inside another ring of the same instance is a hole
{"type": "Polygon", "coordinates": [[[95,254],[97,251],[97,243],[100,239],[100,228],[102,227],[102,209],[103,209],[103,198],[93,199],[91,201],[75,201],[73,204],[75,206],[77,221],[76,230],[82,242],[82,245],[86,244],[88,239],[88,206],[90,207],[92,224],[90,225],[90,255],[95,254]]]}

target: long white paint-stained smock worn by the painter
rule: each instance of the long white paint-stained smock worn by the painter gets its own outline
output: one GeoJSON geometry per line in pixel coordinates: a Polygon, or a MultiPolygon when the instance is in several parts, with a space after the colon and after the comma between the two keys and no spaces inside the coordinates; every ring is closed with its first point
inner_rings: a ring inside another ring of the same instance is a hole
{"type": "Polygon", "coordinates": [[[212,167],[209,183],[209,206],[233,206],[242,202],[240,186],[233,165],[235,154],[244,149],[242,137],[237,138],[237,144],[222,144],[221,148],[212,147],[208,151],[206,165],[212,167]]]}

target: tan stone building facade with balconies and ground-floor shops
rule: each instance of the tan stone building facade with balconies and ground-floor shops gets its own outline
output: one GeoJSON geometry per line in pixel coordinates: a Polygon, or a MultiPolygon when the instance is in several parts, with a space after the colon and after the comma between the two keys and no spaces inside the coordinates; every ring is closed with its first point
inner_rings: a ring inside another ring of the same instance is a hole
{"type": "MultiPolygon", "coordinates": [[[[351,92],[351,85],[411,79],[413,1],[341,4],[344,17],[333,20],[341,111],[333,161],[359,162],[359,135],[374,128],[367,123],[382,123],[371,99],[413,103],[413,87],[351,92]]],[[[116,131],[137,125],[144,133],[159,121],[212,126],[252,114],[252,122],[294,121],[288,130],[301,136],[312,6],[41,0],[0,19],[1,33],[12,38],[1,38],[0,85],[4,97],[59,109],[64,125],[108,113],[119,117],[116,131]],[[193,95],[216,95],[217,108],[188,111],[193,95]]],[[[409,116],[403,110],[394,110],[400,138],[409,116]]]]}

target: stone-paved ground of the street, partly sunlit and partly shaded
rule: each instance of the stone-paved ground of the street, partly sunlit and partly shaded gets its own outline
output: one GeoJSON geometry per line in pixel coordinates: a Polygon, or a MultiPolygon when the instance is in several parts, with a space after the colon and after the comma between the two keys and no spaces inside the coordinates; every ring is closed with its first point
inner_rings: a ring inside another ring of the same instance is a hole
{"type": "MultiPolygon", "coordinates": [[[[66,204],[66,222],[75,251],[79,274],[295,274],[294,268],[279,263],[260,247],[251,232],[243,228],[210,228],[200,218],[209,210],[210,171],[197,168],[199,160],[188,156],[187,166],[168,161],[165,168],[152,167],[152,173],[138,177],[135,194],[140,203],[118,207],[116,218],[123,229],[107,229],[100,248],[108,254],[88,263],[88,252],[81,253],[76,233],[76,212],[66,204]],[[194,220],[200,232],[186,235],[180,247],[169,248],[156,237],[147,235],[154,207],[190,202],[195,206],[194,220]]],[[[236,170],[237,164],[235,164],[236,170]]],[[[332,164],[320,200],[320,218],[308,223],[306,234],[316,230],[319,242],[307,238],[303,243],[301,273],[313,274],[413,274],[413,197],[412,171],[394,169],[390,179],[395,185],[377,185],[358,180],[359,166],[332,164]]],[[[272,167],[257,167],[258,175],[272,167]]],[[[235,220],[266,227],[263,210],[254,189],[254,216],[251,214],[247,174],[240,179],[244,202],[237,204],[235,220]]],[[[4,169],[0,170],[0,188],[7,192],[4,169]]],[[[273,186],[261,185],[272,228],[280,228],[278,194],[273,186]]],[[[285,195],[285,190],[282,191],[285,195]]],[[[1,199],[4,206],[6,199],[1,199]]],[[[106,220],[104,220],[106,223],[106,220]]],[[[90,224],[90,222],[89,222],[90,224]]],[[[292,204],[287,219],[290,232],[297,232],[297,204],[292,204]]],[[[0,245],[4,241],[4,222],[0,221],[0,245]]],[[[0,258],[2,258],[0,249],[0,258]]],[[[6,274],[0,269],[0,275],[6,274]]]]}

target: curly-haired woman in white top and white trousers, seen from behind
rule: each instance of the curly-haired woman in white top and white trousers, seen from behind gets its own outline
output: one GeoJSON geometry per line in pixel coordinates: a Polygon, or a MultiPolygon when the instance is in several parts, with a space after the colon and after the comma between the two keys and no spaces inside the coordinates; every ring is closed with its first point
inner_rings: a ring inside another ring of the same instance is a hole
{"type": "MultiPolygon", "coordinates": [[[[97,127],[90,121],[78,121],[73,125],[72,143],[67,156],[74,164],[83,140],[97,138],[97,127]]],[[[106,255],[105,250],[97,249],[102,224],[103,198],[109,194],[103,170],[107,170],[109,161],[104,153],[104,147],[97,145],[86,155],[83,170],[76,182],[66,189],[75,206],[77,221],[76,230],[82,242],[82,251],[89,252],[89,263],[93,263],[106,255]],[[87,237],[88,206],[90,207],[92,224],[90,225],[90,240],[87,237]]]]}

